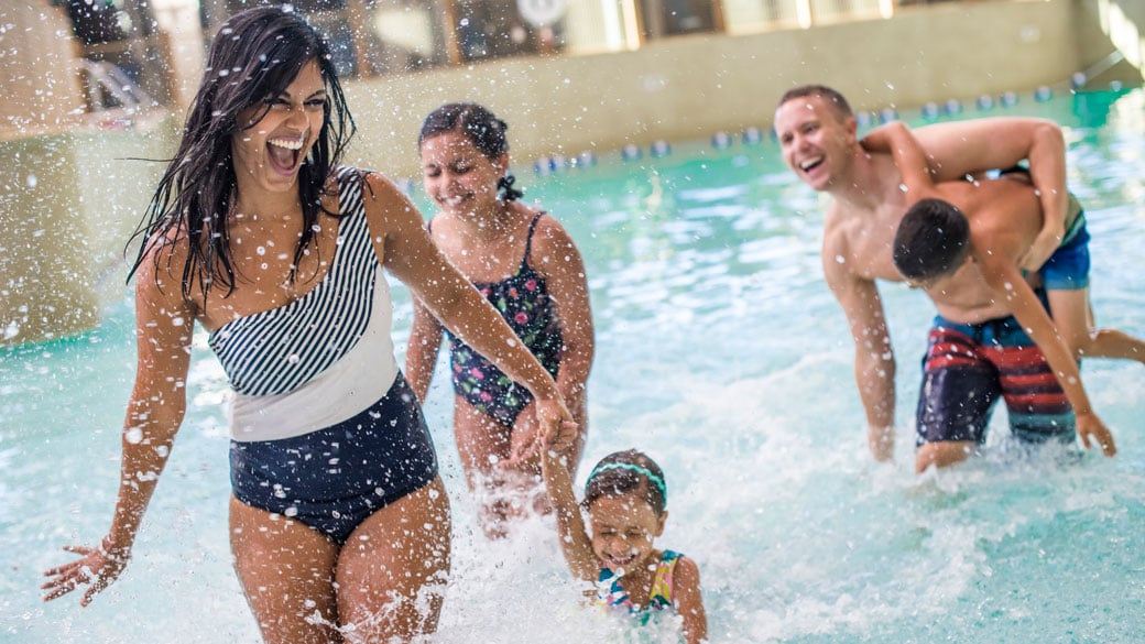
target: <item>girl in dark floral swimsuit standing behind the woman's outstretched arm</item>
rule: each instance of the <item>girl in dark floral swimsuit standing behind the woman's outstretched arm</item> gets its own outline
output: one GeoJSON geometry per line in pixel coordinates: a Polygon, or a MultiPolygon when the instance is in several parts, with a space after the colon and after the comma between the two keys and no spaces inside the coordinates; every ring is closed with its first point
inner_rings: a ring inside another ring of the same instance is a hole
{"type": "MultiPolygon", "coordinates": [[[[585,383],[593,328],[581,253],[550,214],[521,204],[508,170],[506,125],[474,103],[450,103],[426,117],[418,139],[425,190],[440,212],[434,242],[502,314],[542,364],[581,426],[566,454],[575,469],[584,445],[585,383]]],[[[425,400],[443,329],[414,304],[405,374],[425,400]]],[[[490,536],[537,490],[539,464],[520,454],[540,440],[532,396],[484,356],[450,335],[453,432],[469,488],[490,536]]]]}

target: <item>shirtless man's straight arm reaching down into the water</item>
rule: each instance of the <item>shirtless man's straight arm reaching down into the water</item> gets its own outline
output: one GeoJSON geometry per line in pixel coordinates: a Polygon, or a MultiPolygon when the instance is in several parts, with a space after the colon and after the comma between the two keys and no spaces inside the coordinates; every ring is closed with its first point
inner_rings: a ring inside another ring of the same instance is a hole
{"type": "Polygon", "coordinates": [[[867,439],[877,461],[894,457],[894,352],[874,280],[851,272],[835,244],[823,245],[823,274],[843,307],[855,343],[855,384],[867,413],[867,439]]]}

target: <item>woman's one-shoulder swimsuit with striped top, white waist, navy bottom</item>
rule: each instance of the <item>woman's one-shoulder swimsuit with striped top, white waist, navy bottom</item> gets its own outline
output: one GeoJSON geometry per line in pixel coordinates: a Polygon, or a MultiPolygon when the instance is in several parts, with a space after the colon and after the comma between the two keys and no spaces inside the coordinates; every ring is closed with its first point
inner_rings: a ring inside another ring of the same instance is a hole
{"type": "Polygon", "coordinates": [[[344,543],[371,513],[429,484],[437,458],[394,359],[362,171],[337,178],[341,217],[325,277],[290,304],[223,324],[210,345],[235,390],[235,497],[344,543]]]}

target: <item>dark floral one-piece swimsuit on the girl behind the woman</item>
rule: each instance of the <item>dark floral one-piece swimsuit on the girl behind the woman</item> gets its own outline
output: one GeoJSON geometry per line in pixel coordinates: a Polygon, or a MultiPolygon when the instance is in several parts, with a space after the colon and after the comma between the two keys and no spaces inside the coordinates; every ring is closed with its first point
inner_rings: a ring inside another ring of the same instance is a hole
{"type": "MultiPolygon", "coordinates": [[[[516,274],[500,282],[474,282],[473,285],[500,312],[513,332],[555,378],[564,344],[556,306],[548,297],[544,277],[529,266],[532,233],[544,214],[538,212],[529,223],[524,256],[516,274]]],[[[512,426],[521,410],[532,401],[532,394],[449,330],[445,332],[450,341],[453,391],[479,411],[512,426]]]]}

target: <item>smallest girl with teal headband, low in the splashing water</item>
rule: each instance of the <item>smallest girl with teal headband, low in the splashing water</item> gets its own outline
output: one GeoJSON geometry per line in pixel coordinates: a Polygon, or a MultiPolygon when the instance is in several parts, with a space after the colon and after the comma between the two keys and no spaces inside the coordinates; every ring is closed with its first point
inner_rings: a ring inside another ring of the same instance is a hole
{"type": "Polygon", "coordinates": [[[634,449],[609,454],[589,474],[579,504],[561,457],[546,451],[542,466],[556,508],[564,559],[574,575],[597,583],[593,602],[641,625],[656,613],[674,612],[682,619],[687,644],[706,641],[700,568],[688,557],[656,550],[653,543],[668,519],[668,487],[660,465],[634,449]]]}

